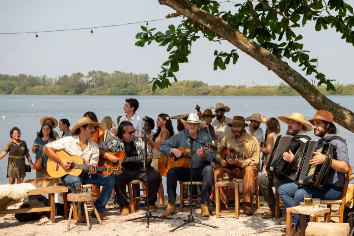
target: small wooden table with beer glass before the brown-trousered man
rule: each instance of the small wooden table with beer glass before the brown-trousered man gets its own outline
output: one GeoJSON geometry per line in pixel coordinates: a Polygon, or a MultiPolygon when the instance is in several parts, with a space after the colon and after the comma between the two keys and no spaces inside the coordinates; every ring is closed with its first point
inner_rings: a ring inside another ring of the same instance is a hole
{"type": "Polygon", "coordinates": [[[220,215],[235,215],[238,219],[240,216],[240,199],[239,199],[239,183],[242,179],[236,179],[235,182],[216,182],[215,183],[215,205],[216,205],[216,218],[218,219],[220,215]],[[235,188],[235,212],[231,210],[221,210],[220,209],[220,187],[234,187],[235,188]]]}

